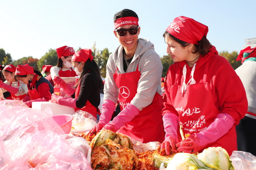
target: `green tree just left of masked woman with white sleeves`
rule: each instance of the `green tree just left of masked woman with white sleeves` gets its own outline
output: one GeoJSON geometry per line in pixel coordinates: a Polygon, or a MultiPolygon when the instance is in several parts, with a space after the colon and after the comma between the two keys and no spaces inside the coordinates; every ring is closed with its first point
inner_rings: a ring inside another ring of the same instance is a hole
{"type": "Polygon", "coordinates": [[[55,49],[50,48],[49,52],[46,52],[39,61],[37,62],[37,66],[39,71],[42,71],[42,66],[44,65],[52,65],[56,66],[58,63],[58,55],[55,49]]]}

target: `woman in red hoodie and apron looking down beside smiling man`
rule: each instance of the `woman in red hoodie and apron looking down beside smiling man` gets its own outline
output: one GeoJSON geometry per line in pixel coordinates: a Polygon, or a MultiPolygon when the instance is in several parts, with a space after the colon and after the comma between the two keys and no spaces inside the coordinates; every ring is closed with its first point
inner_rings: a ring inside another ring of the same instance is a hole
{"type": "Polygon", "coordinates": [[[247,111],[245,89],[229,62],[207,40],[208,27],[180,16],[163,37],[175,62],[166,75],[162,153],[237,150],[236,125],[247,111]],[[189,137],[181,141],[179,125],[189,137]],[[165,150],[164,150],[165,149],[165,150]]]}

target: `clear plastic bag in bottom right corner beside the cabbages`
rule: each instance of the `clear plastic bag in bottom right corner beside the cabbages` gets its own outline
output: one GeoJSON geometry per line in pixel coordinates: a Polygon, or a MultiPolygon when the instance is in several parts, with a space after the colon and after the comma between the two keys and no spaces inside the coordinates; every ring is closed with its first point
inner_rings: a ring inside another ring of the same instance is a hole
{"type": "Polygon", "coordinates": [[[230,158],[235,170],[256,170],[256,157],[249,152],[233,151],[230,158]]]}

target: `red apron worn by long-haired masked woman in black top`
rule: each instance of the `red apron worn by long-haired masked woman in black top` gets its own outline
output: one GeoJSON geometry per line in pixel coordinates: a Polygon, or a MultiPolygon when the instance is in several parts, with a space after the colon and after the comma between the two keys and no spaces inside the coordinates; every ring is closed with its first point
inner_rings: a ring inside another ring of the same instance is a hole
{"type": "MultiPolygon", "coordinates": [[[[76,79],[76,82],[77,82],[77,79],[76,79]]],[[[80,81],[81,82],[81,81],[80,81]]],[[[79,96],[79,93],[80,93],[80,82],[78,84],[78,86],[76,87],[76,91],[75,91],[75,98],[77,99],[78,96],[79,96]]],[[[75,108],[75,111],[78,111],[78,110],[82,110],[82,111],[86,111],[90,114],[92,114],[96,119],[97,119],[97,114],[101,114],[100,112],[98,112],[98,108],[96,108],[95,106],[93,106],[89,100],[87,100],[85,106],[83,108],[75,108]]]]}

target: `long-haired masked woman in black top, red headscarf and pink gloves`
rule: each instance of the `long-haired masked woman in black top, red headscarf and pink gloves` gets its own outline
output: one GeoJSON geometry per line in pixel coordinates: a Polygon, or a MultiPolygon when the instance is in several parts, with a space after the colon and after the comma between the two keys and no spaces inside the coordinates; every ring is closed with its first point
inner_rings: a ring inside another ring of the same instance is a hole
{"type": "Polygon", "coordinates": [[[72,64],[75,67],[79,79],[75,89],[68,86],[60,77],[54,78],[54,84],[60,85],[67,95],[72,98],[65,98],[52,94],[52,102],[69,106],[77,110],[83,110],[97,118],[100,114],[98,106],[100,103],[100,91],[103,86],[98,65],[93,60],[90,49],[81,49],[72,57],[72,64]]]}

